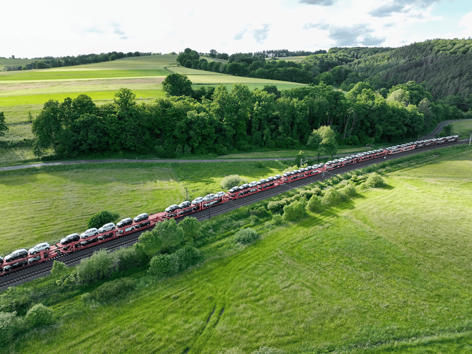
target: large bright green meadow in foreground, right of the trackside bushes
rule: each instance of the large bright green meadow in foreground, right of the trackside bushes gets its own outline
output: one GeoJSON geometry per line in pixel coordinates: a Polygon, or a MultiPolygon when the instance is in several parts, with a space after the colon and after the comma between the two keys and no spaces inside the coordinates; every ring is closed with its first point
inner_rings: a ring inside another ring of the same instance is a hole
{"type": "Polygon", "coordinates": [[[255,244],[205,246],[206,263],[142,277],[118,303],[58,304],[59,326],[4,352],[467,352],[472,151],[454,151],[321,215],[261,227],[255,244]]]}

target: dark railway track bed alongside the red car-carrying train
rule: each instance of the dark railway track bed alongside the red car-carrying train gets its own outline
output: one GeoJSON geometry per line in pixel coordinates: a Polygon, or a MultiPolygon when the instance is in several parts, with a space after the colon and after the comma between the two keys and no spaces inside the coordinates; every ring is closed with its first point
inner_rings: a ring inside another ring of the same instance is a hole
{"type": "MultiPolygon", "coordinates": [[[[221,215],[221,214],[227,213],[231,210],[240,208],[242,206],[253,204],[257,201],[260,201],[260,200],[263,200],[263,199],[266,199],[266,198],[275,197],[275,196],[277,196],[281,193],[284,193],[284,192],[290,191],[292,189],[295,189],[295,188],[298,188],[298,187],[301,187],[301,186],[304,186],[304,185],[307,185],[307,184],[310,184],[310,183],[314,183],[316,181],[320,181],[320,180],[323,180],[323,179],[326,179],[326,178],[329,178],[329,177],[332,177],[332,176],[335,176],[335,175],[338,175],[338,174],[342,174],[342,173],[346,173],[346,172],[349,172],[349,171],[357,170],[359,168],[363,168],[363,167],[366,167],[366,166],[369,166],[369,165],[373,165],[375,163],[381,163],[381,162],[384,162],[384,161],[387,161],[387,160],[393,160],[393,159],[399,158],[399,157],[405,157],[405,156],[409,156],[409,155],[419,154],[419,153],[422,153],[422,152],[425,152],[425,151],[439,150],[439,149],[442,149],[442,148],[445,148],[445,147],[465,144],[465,143],[468,143],[468,142],[469,142],[468,139],[463,139],[463,140],[458,140],[458,141],[455,141],[455,142],[452,142],[452,143],[445,144],[445,146],[444,145],[441,145],[441,146],[433,145],[433,146],[428,146],[428,147],[421,148],[421,149],[413,149],[413,150],[405,151],[405,152],[394,154],[394,155],[387,155],[386,158],[375,158],[375,159],[371,159],[371,160],[357,162],[357,163],[354,163],[350,166],[339,167],[339,168],[336,168],[334,171],[325,172],[324,175],[319,174],[319,175],[315,175],[315,176],[312,176],[312,177],[306,177],[306,178],[298,179],[298,180],[295,180],[293,182],[283,184],[283,185],[280,185],[278,187],[271,188],[271,189],[268,189],[268,190],[265,190],[265,191],[247,196],[247,197],[231,200],[231,201],[228,201],[228,202],[223,203],[223,204],[218,204],[218,205],[216,205],[214,207],[211,207],[209,209],[205,209],[203,211],[193,213],[191,216],[196,217],[198,221],[206,220],[206,219],[211,218],[212,216],[221,215]]],[[[183,219],[183,217],[184,216],[182,216],[180,218],[177,218],[177,222],[178,222],[179,219],[183,219]]],[[[38,264],[33,264],[29,267],[21,268],[17,271],[13,271],[13,272],[5,274],[5,275],[0,275],[0,291],[3,291],[3,290],[7,289],[10,286],[20,285],[20,284],[25,283],[27,281],[30,281],[30,280],[37,279],[39,277],[48,275],[49,272],[52,269],[53,260],[58,260],[60,262],[65,263],[68,266],[74,266],[74,265],[77,265],[80,262],[81,259],[91,256],[95,251],[97,251],[99,249],[107,248],[110,251],[114,251],[114,250],[117,250],[121,247],[127,247],[129,245],[132,245],[133,243],[138,241],[139,235],[141,235],[141,233],[144,232],[144,231],[145,230],[140,230],[140,231],[134,232],[132,234],[122,236],[122,237],[119,237],[117,239],[110,240],[108,242],[100,243],[96,246],[92,246],[92,247],[84,249],[84,250],[78,250],[78,251],[74,251],[72,253],[67,253],[67,254],[64,254],[64,255],[51,257],[48,261],[44,261],[44,262],[41,262],[41,263],[38,263],[38,264]]]]}

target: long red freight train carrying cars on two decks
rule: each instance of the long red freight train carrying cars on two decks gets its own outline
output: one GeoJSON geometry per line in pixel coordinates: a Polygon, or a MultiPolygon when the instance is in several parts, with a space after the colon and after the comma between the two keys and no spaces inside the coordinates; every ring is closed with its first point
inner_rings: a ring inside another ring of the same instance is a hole
{"type": "Polygon", "coordinates": [[[325,172],[332,171],[336,168],[348,166],[357,162],[366,161],[379,157],[386,157],[387,155],[397,154],[408,150],[420,149],[432,145],[442,145],[457,141],[457,135],[435,138],[428,140],[420,140],[407,144],[396,145],[386,149],[378,149],[367,151],[348,157],[334,159],[326,163],[319,163],[306,168],[300,168],[291,172],[286,172],[283,175],[276,175],[274,177],[267,177],[260,179],[257,182],[235,186],[228,192],[218,192],[216,194],[209,194],[206,197],[198,197],[193,201],[184,201],[179,205],[173,204],[166,208],[163,212],[156,214],[139,214],[134,219],[122,219],[117,225],[108,223],[99,229],[88,229],[81,235],[71,234],[62,238],[55,245],[49,245],[46,242],[40,243],[29,251],[20,249],[14,251],[12,254],[0,257],[0,273],[1,275],[8,274],[16,269],[23,268],[35,264],[37,262],[44,262],[54,259],[55,256],[67,254],[82,250],[93,245],[101,244],[121,236],[132,234],[139,230],[153,228],[158,222],[168,220],[170,218],[181,218],[192,215],[193,213],[211,208],[212,205],[231,202],[234,199],[247,197],[258,192],[276,188],[282,184],[290,183],[294,180],[311,177],[325,172]]]}

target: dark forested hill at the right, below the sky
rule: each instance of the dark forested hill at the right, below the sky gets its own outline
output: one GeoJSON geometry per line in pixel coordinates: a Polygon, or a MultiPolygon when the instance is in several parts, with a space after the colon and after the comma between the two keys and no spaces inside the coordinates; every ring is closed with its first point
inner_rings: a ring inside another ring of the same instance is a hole
{"type": "MultiPolygon", "coordinates": [[[[332,48],[330,52],[339,55],[356,50],[332,48]]],[[[414,80],[426,81],[426,89],[435,98],[458,94],[465,99],[472,94],[472,39],[427,40],[370,56],[358,55],[347,65],[368,77],[377,89],[414,80]]]]}

